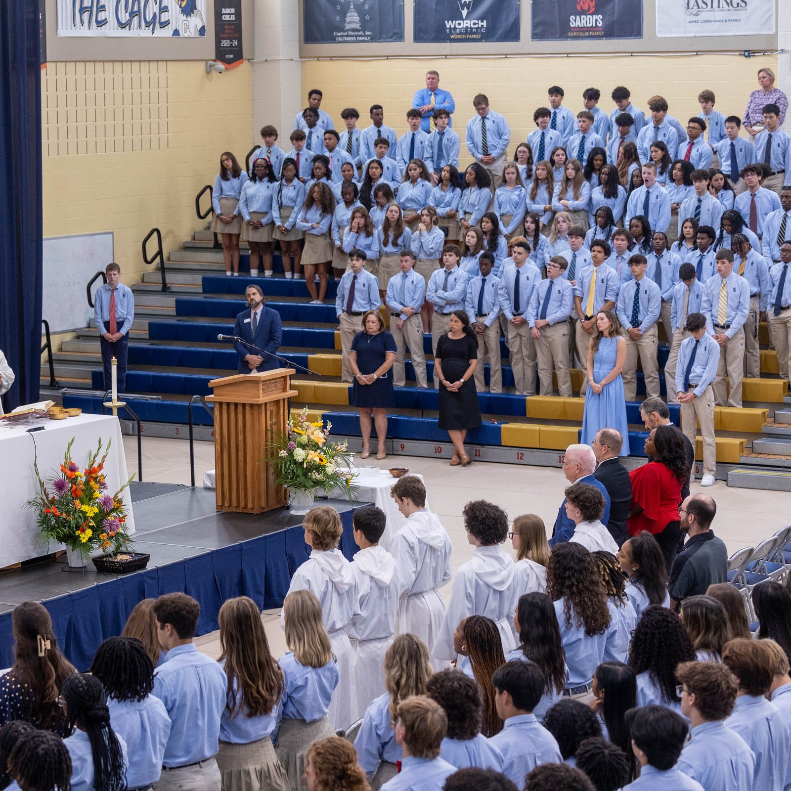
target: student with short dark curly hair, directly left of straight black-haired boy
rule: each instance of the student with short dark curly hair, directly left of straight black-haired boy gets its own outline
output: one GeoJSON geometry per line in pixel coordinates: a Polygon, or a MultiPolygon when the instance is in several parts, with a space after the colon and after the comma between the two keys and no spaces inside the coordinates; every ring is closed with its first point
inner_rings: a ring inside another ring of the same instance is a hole
{"type": "Polygon", "coordinates": [[[501,751],[480,732],[483,698],[478,683],[458,670],[442,670],[429,679],[426,694],[448,717],[441,758],[456,769],[478,766],[501,771],[501,751]]]}

